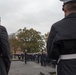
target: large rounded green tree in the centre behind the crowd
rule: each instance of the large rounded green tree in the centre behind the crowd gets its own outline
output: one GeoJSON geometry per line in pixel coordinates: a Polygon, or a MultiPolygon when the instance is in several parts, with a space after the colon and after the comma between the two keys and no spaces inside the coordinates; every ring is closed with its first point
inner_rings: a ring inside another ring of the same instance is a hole
{"type": "Polygon", "coordinates": [[[43,36],[33,28],[19,29],[17,38],[23,51],[27,49],[27,52],[39,52],[44,48],[43,36]]]}

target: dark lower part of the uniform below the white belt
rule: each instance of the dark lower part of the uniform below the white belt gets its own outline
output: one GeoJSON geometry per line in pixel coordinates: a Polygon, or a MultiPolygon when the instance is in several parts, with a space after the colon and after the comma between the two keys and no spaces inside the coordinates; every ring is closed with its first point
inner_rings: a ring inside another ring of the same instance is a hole
{"type": "Polygon", "coordinates": [[[61,59],[57,64],[57,75],[76,75],[76,59],[61,59]]]}

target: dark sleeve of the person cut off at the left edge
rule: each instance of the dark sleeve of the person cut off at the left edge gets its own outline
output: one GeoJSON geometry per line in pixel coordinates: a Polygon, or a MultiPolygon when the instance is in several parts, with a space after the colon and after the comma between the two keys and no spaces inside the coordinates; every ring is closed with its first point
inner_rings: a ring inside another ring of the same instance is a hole
{"type": "Polygon", "coordinates": [[[8,34],[5,27],[1,27],[0,30],[0,45],[1,45],[2,59],[4,61],[6,71],[8,73],[11,60],[10,60],[10,45],[8,41],[8,34]]]}

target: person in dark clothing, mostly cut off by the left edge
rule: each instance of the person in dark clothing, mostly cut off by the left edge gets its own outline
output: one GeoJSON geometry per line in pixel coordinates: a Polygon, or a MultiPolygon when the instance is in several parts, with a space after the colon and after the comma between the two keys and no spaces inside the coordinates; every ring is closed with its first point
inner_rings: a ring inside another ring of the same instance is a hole
{"type": "Polygon", "coordinates": [[[7,30],[0,25],[0,75],[8,75],[11,63],[7,30]]]}

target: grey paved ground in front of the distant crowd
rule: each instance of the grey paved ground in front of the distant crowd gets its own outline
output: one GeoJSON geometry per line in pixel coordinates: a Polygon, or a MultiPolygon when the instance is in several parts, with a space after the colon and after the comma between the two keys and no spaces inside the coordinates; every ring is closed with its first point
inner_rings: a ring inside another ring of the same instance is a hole
{"type": "Polygon", "coordinates": [[[55,71],[50,66],[40,66],[36,62],[12,61],[9,75],[39,75],[40,72],[48,73],[55,71]]]}

